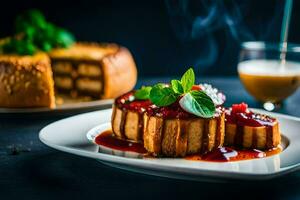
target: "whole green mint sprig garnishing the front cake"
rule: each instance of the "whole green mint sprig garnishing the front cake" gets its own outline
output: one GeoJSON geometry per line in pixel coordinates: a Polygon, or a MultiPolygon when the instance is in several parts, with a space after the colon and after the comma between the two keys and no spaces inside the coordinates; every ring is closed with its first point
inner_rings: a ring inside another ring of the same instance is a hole
{"type": "Polygon", "coordinates": [[[195,84],[195,73],[188,69],[180,80],[171,80],[170,84],[158,83],[135,92],[136,99],[150,99],[156,106],[168,106],[177,101],[182,109],[203,118],[210,118],[215,113],[213,100],[201,90],[192,90],[195,84]]]}

